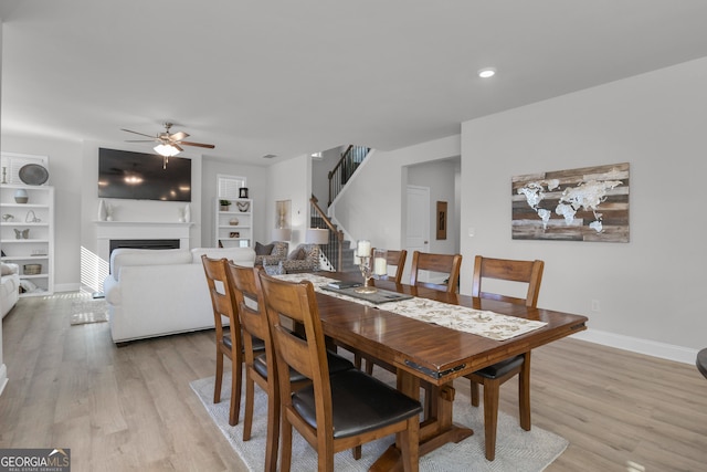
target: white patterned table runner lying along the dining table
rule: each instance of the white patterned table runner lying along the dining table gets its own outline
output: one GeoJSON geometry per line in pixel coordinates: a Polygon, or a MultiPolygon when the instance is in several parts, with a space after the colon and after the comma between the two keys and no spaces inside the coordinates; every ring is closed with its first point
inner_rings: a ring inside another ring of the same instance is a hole
{"type": "Polygon", "coordinates": [[[547,325],[545,322],[502,315],[499,313],[452,305],[418,296],[400,302],[389,302],[383,305],[376,305],[365,300],[321,289],[321,285],[326,285],[329,282],[335,281],[335,279],[323,275],[309,273],[286,274],[277,275],[277,279],[289,282],[307,280],[314,284],[315,291],[329,296],[345,298],[367,306],[379,307],[398,315],[408,316],[426,323],[434,323],[451,329],[462,331],[495,340],[510,339],[515,336],[529,333],[547,325]]]}

